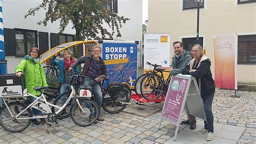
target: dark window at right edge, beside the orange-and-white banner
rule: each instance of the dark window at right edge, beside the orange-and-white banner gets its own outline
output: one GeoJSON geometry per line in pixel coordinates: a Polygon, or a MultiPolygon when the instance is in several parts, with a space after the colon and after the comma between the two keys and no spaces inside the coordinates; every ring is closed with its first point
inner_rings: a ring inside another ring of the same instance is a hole
{"type": "Polygon", "coordinates": [[[238,64],[256,64],[256,35],[238,36],[238,64]]]}

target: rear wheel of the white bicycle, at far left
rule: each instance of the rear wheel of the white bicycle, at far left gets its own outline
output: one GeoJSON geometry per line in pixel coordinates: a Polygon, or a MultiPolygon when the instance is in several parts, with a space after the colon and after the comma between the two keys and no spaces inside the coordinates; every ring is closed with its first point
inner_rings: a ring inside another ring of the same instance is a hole
{"type": "MultiPolygon", "coordinates": [[[[20,102],[11,102],[8,104],[11,113],[16,116],[17,112],[22,112],[26,106],[20,102]]],[[[30,108],[26,109],[18,118],[29,118],[32,116],[30,108]]],[[[31,119],[15,119],[11,117],[8,108],[4,106],[0,111],[0,125],[7,131],[12,133],[21,132],[28,128],[31,123],[31,119]]]]}

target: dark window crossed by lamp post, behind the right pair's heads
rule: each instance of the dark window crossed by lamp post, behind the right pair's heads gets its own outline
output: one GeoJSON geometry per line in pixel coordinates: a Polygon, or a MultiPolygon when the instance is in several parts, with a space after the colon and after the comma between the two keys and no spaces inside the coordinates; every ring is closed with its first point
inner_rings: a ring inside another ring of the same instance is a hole
{"type": "MultiPolygon", "coordinates": [[[[182,42],[183,42],[183,49],[186,50],[186,51],[191,51],[192,46],[197,44],[197,38],[183,38],[182,42]]],[[[199,37],[199,44],[202,47],[204,47],[203,42],[204,42],[204,38],[199,37]]]]}

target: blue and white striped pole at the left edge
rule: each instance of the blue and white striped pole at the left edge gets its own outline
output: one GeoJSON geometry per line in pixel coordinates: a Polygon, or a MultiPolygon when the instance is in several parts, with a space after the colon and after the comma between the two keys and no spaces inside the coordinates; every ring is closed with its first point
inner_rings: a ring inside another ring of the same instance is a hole
{"type": "Polygon", "coordinates": [[[6,73],[6,60],[4,49],[4,26],[2,15],[2,0],[0,0],[0,74],[6,73]]]}

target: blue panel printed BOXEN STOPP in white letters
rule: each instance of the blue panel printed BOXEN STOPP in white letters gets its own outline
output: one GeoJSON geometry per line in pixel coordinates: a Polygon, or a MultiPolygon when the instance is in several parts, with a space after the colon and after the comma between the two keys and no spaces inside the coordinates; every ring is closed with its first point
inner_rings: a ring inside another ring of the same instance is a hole
{"type": "MultiPolygon", "coordinates": [[[[103,43],[102,56],[107,67],[107,80],[134,86],[137,78],[137,49],[135,43],[103,43]]],[[[107,83],[104,83],[104,87],[107,83]]]]}

